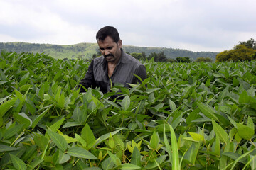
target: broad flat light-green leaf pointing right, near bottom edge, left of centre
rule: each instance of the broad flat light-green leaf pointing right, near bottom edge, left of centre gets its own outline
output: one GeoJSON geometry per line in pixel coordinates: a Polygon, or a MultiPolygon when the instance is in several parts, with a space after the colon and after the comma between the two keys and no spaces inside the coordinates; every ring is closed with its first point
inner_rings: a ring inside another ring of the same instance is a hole
{"type": "Polygon", "coordinates": [[[92,153],[83,149],[82,147],[71,147],[67,152],[70,156],[80,157],[85,159],[97,159],[92,153]]]}

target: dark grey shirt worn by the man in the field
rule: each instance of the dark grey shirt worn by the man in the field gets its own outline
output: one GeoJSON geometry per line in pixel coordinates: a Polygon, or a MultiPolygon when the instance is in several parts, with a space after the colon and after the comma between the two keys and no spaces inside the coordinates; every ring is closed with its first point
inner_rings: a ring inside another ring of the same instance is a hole
{"type": "MultiPolygon", "coordinates": [[[[137,81],[139,82],[139,79],[133,74],[144,80],[146,79],[146,68],[141,62],[122,50],[122,56],[111,77],[107,73],[107,61],[104,56],[100,56],[92,60],[85,78],[80,81],[80,84],[85,88],[92,87],[95,89],[100,87],[100,91],[107,93],[111,89],[111,81],[112,86],[118,82],[124,84],[125,87],[129,87],[127,83],[136,84],[137,81]]],[[[81,92],[85,92],[82,87],[80,89],[81,92]]]]}

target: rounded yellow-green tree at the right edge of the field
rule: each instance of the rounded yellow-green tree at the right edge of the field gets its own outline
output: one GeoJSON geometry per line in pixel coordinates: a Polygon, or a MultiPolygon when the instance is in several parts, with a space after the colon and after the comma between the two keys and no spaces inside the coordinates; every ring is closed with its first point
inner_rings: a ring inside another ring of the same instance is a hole
{"type": "Polygon", "coordinates": [[[256,59],[256,50],[245,45],[236,45],[233,50],[225,50],[216,55],[215,62],[225,61],[251,61],[256,59]]]}

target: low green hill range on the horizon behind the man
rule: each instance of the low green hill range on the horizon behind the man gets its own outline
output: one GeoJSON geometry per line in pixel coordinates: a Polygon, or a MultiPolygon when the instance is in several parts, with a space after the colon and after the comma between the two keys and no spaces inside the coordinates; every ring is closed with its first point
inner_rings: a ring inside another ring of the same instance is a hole
{"type": "MultiPolygon", "coordinates": [[[[125,52],[145,52],[146,56],[149,56],[151,52],[162,52],[167,58],[176,57],[190,57],[192,60],[196,60],[197,57],[210,57],[215,61],[215,57],[218,52],[192,52],[188,50],[163,48],[163,47],[137,47],[124,45],[125,52]]],[[[75,45],[51,45],[51,44],[35,44],[27,42],[5,42],[0,43],[0,50],[6,50],[8,52],[33,52],[33,53],[45,53],[55,58],[91,58],[92,55],[98,53],[97,43],[79,43],[75,45]]]]}

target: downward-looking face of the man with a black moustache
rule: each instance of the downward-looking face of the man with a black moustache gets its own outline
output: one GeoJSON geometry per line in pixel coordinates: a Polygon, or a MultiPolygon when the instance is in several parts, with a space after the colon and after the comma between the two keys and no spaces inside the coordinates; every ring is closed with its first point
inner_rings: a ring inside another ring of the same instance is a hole
{"type": "Polygon", "coordinates": [[[97,43],[100,47],[100,52],[105,57],[107,62],[119,62],[121,57],[121,47],[122,47],[122,40],[119,40],[117,43],[114,42],[110,36],[107,36],[105,40],[97,40],[97,43]]]}

